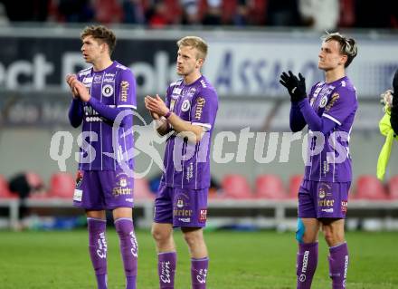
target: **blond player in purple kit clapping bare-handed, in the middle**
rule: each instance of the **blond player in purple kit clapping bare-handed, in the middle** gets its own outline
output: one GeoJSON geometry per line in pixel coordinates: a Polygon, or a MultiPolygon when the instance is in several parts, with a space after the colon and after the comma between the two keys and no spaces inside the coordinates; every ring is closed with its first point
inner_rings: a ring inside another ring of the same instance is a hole
{"type": "Polygon", "coordinates": [[[210,138],[218,100],[212,84],[201,74],[207,43],[199,37],[187,36],[177,45],[176,69],[183,78],[170,84],[166,102],[158,95],[145,99],[159,134],[171,134],[155,200],[152,235],[158,253],[160,288],[174,288],[173,227],[179,226],[191,254],[192,288],[204,289],[209,259],[203,227],[210,187],[210,138]]]}

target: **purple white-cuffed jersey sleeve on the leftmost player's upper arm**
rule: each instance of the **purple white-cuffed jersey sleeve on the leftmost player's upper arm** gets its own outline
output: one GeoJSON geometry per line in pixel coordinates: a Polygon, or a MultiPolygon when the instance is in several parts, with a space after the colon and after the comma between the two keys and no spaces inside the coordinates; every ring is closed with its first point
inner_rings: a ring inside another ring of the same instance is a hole
{"type": "Polygon", "coordinates": [[[118,96],[116,106],[118,108],[137,109],[136,80],[129,69],[120,70],[118,77],[118,96]]]}

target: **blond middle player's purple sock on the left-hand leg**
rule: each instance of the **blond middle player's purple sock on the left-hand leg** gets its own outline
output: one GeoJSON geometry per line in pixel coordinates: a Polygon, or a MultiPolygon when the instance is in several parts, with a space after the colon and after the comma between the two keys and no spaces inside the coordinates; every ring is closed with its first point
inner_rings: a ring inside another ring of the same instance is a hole
{"type": "Polygon", "coordinates": [[[174,289],[176,260],[175,252],[157,254],[157,274],[159,275],[160,289],[174,289]]]}

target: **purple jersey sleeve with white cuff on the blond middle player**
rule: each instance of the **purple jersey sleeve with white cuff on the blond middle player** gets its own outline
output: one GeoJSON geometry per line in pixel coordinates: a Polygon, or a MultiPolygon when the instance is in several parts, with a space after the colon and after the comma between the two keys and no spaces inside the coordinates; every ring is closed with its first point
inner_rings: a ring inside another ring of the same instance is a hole
{"type": "Polygon", "coordinates": [[[191,110],[191,123],[211,130],[218,110],[217,93],[206,89],[194,99],[191,110]]]}

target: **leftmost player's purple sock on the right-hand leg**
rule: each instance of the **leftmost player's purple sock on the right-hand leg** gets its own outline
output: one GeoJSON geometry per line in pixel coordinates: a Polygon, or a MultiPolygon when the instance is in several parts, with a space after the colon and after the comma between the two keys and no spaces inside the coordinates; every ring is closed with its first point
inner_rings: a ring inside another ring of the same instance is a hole
{"type": "Polygon", "coordinates": [[[126,289],[136,289],[138,245],[133,220],[121,217],[115,221],[120,253],[126,274],[126,289]]]}

